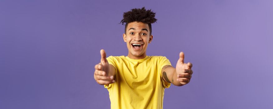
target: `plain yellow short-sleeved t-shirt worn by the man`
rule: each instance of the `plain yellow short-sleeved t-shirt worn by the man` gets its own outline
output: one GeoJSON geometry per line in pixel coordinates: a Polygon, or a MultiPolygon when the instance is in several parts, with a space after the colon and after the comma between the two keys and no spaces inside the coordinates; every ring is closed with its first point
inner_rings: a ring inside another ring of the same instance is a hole
{"type": "Polygon", "coordinates": [[[109,56],[115,71],[115,83],[105,85],[109,91],[111,109],[162,109],[164,89],[170,87],[161,75],[165,65],[171,65],[163,56],[130,59],[109,56]]]}

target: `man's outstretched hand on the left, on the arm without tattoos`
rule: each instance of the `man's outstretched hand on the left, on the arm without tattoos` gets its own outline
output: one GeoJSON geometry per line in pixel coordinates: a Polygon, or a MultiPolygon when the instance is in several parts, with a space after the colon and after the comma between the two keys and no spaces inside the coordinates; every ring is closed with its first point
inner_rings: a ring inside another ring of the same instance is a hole
{"type": "Polygon", "coordinates": [[[95,65],[94,78],[100,85],[114,83],[115,80],[113,76],[108,76],[109,74],[109,63],[106,59],[106,53],[104,50],[100,50],[100,63],[95,65]]]}

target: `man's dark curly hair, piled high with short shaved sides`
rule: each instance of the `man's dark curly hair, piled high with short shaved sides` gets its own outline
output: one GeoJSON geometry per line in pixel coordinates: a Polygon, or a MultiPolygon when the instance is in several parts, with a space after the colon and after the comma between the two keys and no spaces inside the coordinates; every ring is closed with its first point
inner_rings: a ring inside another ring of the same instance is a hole
{"type": "Polygon", "coordinates": [[[126,34],[126,28],[128,26],[128,23],[134,22],[134,21],[147,23],[149,26],[150,35],[151,35],[152,34],[151,24],[157,21],[157,19],[154,18],[154,16],[155,16],[155,13],[152,12],[151,10],[146,10],[145,7],[142,7],[141,9],[134,8],[134,9],[131,9],[131,11],[123,13],[123,19],[120,21],[120,23],[122,23],[122,25],[126,23],[125,34],[126,34]]]}

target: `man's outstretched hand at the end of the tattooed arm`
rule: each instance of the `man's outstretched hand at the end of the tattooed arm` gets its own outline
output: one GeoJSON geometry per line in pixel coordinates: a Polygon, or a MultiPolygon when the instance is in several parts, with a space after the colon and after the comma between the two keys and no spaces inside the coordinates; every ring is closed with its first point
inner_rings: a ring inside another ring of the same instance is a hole
{"type": "Polygon", "coordinates": [[[182,85],[185,85],[190,82],[193,74],[192,70],[193,64],[184,63],[184,53],[180,52],[179,59],[176,64],[176,73],[177,73],[177,81],[182,85]]]}

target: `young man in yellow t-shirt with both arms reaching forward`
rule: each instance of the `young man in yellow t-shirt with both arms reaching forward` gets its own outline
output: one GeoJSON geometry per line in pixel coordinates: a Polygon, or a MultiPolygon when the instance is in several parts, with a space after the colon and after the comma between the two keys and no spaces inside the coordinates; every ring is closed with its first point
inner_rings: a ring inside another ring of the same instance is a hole
{"type": "Polygon", "coordinates": [[[151,10],[132,9],[123,14],[123,40],[127,56],[109,56],[100,50],[101,62],[95,65],[94,78],[109,91],[113,109],[162,109],[164,89],[171,83],[183,86],[189,83],[193,71],[191,63],[184,63],[180,52],[176,68],[163,56],[147,56],[152,42],[151,23],[157,19],[151,10]]]}

